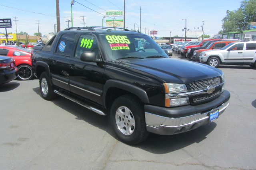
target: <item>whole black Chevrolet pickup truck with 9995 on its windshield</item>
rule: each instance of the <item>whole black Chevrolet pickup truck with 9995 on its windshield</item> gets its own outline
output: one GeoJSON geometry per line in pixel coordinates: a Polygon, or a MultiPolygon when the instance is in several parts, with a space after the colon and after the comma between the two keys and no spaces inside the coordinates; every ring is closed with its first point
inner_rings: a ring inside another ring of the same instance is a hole
{"type": "Polygon", "coordinates": [[[72,27],[34,47],[32,69],[42,98],[63,96],[109,115],[128,144],[149,132],[178,134],[218,118],[228,106],[222,71],[168,58],[140,32],[72,27]]]}

